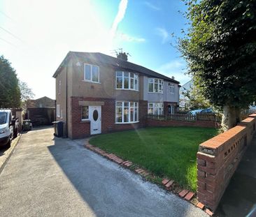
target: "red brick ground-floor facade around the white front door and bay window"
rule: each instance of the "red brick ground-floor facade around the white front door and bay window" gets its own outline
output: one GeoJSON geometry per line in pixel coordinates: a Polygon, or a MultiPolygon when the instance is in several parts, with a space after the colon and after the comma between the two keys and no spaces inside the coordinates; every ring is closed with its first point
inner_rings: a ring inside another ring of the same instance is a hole
{"type": "MultiPolygon", "coordinates": [[[[145,126],[145,115],[148,111],[148,101],[138,102],[139,122],[135,124],[115,124],[115,99],[71,97],[71,133],[72,139],[90,136],[90,121],[81,121],[81,106],[79,101],[102,101],[101,106],[101,133],[111,133],[120,130],[131,130],[145,126]]],[[[71,134],[71,135],[70,135],[71,134]]]]}

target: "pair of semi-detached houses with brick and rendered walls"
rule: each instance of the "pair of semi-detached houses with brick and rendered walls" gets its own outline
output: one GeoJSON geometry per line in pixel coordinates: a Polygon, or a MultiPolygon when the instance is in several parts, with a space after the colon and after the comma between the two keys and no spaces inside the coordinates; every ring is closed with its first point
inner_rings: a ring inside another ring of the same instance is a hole
{"type": "Polygon", "coordinates": [[[147,114],[178,110],[178,81],[106,54],[69,52],[53,77],[57,121],[72,139],[143,127],[147,114]]]}

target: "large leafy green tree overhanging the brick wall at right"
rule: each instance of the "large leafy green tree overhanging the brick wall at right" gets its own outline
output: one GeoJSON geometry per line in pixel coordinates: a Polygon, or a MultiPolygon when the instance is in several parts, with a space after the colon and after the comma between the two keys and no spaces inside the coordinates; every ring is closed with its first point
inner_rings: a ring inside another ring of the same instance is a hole
{"type": "Polygon", "coordinates": [[[222,107],[222,127],[240,120],[256,96],[256,1],[185,1],[189,28],[179,40],[194,84],[222,107]]]}

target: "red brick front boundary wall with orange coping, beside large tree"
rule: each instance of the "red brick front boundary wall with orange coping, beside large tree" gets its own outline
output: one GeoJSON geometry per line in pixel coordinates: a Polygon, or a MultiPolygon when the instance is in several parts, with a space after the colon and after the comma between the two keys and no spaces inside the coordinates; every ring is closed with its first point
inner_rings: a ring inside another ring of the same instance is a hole
{"type": "Polygon", "coordinates": [[[238,126],[199,145],[197,199],[213,211],[255,134],[255,117],[251,114],[238,126]]]}

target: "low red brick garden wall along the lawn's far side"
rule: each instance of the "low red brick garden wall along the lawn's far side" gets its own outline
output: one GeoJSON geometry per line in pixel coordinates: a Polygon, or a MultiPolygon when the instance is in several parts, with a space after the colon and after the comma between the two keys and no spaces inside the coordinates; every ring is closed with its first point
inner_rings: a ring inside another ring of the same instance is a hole
{"type": "Polygon", "coordinates": [[[154,120],[147,119],[146,126],[200,126],[206,128],[217,128],[215,121],[174,121],[174,120],[154,120]]]}

